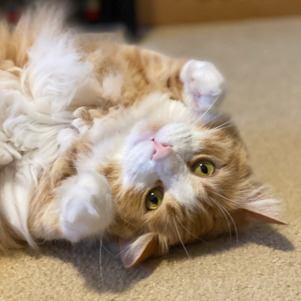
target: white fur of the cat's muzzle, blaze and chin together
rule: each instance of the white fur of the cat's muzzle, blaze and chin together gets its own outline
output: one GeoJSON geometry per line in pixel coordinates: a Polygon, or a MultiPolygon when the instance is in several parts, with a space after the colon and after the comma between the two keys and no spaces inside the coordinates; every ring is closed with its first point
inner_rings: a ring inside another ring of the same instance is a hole
{"type": "Polygon", "coordinates": [[[182,103],[163,97],[160,106],[164,107],[164,110],[161,109],[155,97],[158,98],[158,95],[150,95],[144,100],[141,107],[145,108],[145,119],[135,124],[126,139],[125,155],[122,158],[124,185],[150,189],[156,181],[161,180],[169,193],[182,205],[193,210],[199,202],[190,183],[191,173],[187,162],[202,148],[197,138],[199,132],[196,132],[193,126],[195,118],[190,109],[182,103]],[[147,131],[147,124],[154,121],[162,123],[161,129],[155,133],[147,131]],[[141,132],[141,128],[146,128],[146,131],[141,132]],[[152,138],[172,145],[174,153],[161,161],[152,160],[152,138]]]}

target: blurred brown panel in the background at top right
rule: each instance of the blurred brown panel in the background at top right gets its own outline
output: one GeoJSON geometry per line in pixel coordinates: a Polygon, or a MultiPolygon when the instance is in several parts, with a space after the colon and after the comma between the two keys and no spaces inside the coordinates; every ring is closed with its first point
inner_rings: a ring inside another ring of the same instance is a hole
{"type": "Polygon", "coordinates": [[[138,26],[301,15],[301,0],[135,0],[138,26]]]}

